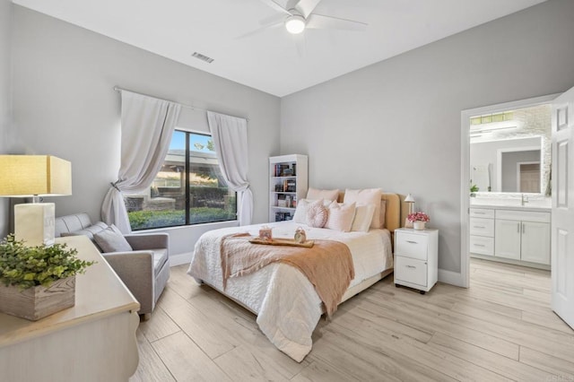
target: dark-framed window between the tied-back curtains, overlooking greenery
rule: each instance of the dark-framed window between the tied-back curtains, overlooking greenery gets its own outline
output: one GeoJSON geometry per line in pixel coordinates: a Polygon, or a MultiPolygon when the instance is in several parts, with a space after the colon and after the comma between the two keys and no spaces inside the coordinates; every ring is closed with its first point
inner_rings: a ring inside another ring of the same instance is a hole
{"type": "Polygon", "coordinates": [[[175,130],[152,186],[124,196],[132,230],[236,220],[236,194],[219,169],[211,135],[175,130]]]}

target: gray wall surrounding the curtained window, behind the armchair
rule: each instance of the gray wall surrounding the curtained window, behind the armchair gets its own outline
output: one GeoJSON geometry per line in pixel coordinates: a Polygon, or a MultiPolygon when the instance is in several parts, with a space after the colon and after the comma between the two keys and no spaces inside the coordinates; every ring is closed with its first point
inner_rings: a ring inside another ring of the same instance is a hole
{"type": "MultiPolygon", "coordinates": [[[[85,211],[100,220],[119,167],[118,85],[248,117],[254,221],[265,221],[268,157],[279,152],[280,99],[21,6],[13,11],[15,150],[72,162],[74,195],[52,199],[58,216],[85,211]]],[[[173,230],[173,252],[193,250],[200,230],[173,230]]]]}

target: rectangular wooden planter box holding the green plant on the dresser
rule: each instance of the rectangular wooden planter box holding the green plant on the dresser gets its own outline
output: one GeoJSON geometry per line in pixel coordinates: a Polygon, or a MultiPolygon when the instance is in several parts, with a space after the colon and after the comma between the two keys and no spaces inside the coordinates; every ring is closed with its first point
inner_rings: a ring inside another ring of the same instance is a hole
{"type": "Polygon", "coordinates": [[[57,280],[48,288],[39,285],[21,290],[0,284],[0,311],[12,316],[37,321],[74,304],[75,276],[57,280]]]}

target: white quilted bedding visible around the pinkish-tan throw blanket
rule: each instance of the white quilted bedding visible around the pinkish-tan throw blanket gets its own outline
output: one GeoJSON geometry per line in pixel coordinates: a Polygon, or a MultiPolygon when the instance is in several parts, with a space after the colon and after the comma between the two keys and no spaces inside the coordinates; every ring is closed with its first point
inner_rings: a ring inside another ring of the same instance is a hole
{"type": "MultiPolygon", "coordinates": [[[[257,236],[264,224],[205,232],[197,241],[187,273],[223,292],[220,257],[225,235],[249,232],[257,236]]],[[[351,250],[355,278],[349,288],[393,266],[390,232],[370,230],[340,232],[311,228],[292,221],[265,224],[273,227],[274,238],[292,238],[303,227],[308,239],[343,242],[351,250]]],[[[230,278],[224,294],[257,313],[257,325],[274,345],[300,362],[311,351],[311,334],[321,317],[321,300],[307,277],[291,265],[274,263],[256,273],[230,278]]],[[[336,314],[336,313],[335,313],[336,314]]]]}

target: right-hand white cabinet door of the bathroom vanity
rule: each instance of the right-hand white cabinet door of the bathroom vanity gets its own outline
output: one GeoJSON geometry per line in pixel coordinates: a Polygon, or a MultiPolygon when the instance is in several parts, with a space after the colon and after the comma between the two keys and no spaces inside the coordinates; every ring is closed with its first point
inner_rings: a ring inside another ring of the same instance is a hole
{"type": "Polygon", "coordinates": [[[550,265],[550,224],[522,221],[521,260],[550,265]]]}

